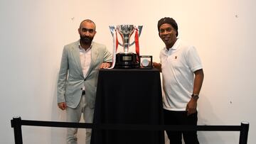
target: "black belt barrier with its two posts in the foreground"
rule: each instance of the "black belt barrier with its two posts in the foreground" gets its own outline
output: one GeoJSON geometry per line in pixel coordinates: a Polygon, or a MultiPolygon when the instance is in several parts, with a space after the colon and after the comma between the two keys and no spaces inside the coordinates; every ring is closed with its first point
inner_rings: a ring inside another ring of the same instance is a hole
{"type": "Polygon", "coordinates": [[[92,128],[127,131],[240,131],[239,144],[247,144],[249,123],[242,122],[240,126],[186,126],[186,125],[142,125],[142,124],[97,124],[97,123],[70,123],[59,121],[28,121],[16,116],[11,120],[14,128],[16,144],[22,144],[21,126],[47,126],[61,128],[92,128]]]}

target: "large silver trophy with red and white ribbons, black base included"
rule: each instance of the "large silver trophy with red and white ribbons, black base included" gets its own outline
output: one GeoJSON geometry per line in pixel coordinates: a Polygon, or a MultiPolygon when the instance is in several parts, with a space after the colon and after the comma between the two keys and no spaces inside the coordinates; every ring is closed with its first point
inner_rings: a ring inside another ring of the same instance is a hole
{"type": "Polygon", "coordinates": [[[116,27],[110,26],[110,31],[112,36],[114,36],[115,32],[121,35],[122,43],[118,42],[118,45],[121,45],[124,48],[123,52],[119,52],[116,55],[115,68],[139,67],[139,48],[136,48],[137,54],[134,52],[129,52],[129,46],[134,45],[134,43],[136,43],[136,38],[134,38],[134,42],[132,43],[130,43],[129,40],[134,31],[137,31],[137,33],[135,33],[135,37],[137,34],[137,42],[139,41],[138,38],[139,35],[142,33],[142,26],[138,26],[138,28],[134,25],[118,25],[116,27]]]}

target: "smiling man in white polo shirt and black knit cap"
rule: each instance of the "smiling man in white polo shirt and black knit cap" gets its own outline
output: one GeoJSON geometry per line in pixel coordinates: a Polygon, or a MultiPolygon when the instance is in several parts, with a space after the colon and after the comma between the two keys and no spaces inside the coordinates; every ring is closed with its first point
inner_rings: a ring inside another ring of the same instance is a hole
{"type": "MultiPolygon", "coordinates": [[[[197,125],[198,94],[203,84],[203,67],[196,48],[178,36],[173,18],[161,18],[157,24],[165,48],[160,52],[161,63],[154,67],[162,72],[164,90],[164,123],[166,125],[197,125]]],[[[166,131],[170,143],[198,144],[196,131],[166,131]]]]}

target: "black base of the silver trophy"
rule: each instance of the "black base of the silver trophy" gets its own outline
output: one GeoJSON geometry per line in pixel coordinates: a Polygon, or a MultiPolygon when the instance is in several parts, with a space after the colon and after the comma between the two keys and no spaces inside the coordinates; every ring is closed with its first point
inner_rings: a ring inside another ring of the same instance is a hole
{"type": "Polygon", "coordinates": [[[114,68],[134,69],[139,67],[137,55],[135,53],[117,53],[114,68]]]}

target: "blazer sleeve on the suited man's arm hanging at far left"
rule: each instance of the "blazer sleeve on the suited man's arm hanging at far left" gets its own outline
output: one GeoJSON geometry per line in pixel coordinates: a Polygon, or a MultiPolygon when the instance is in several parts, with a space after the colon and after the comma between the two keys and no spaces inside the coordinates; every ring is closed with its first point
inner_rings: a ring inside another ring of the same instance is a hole
{"type": "Polygon", "coordinates": [[[68,48],[63,48],[63,55],[60,62],[60,71],[58,74],[57,102],[65,102],[65,84],[68,77],[68,48]]]}

